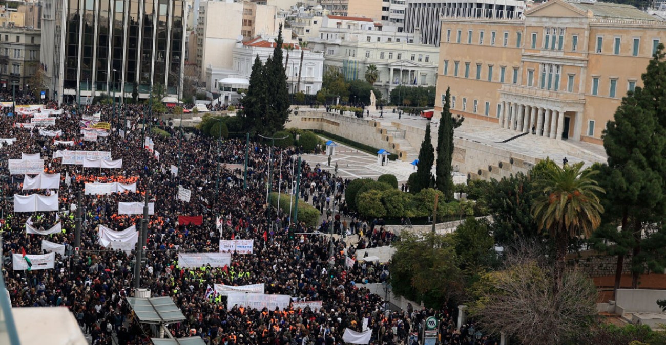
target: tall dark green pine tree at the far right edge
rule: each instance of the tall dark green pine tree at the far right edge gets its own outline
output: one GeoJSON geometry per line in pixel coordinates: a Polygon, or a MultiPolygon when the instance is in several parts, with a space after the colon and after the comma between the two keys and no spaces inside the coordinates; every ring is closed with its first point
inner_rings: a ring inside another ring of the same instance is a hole
{"type": "Polygon", "coordinates": [[[632,288],[645,267],[663,271],[666,264],[666,62],[663,46],[643,74],[643,88],[622,99],[604,131],[608,164],[597,167],[606,189],[607,211],[593,234],[596,249],[617,255],[615,288],[619,288],[624,256],[632,254],[632,288]],[[617,227],[621,231],[617,231],[617,227]],[[608,240],[614,245],[606,245],[608,240]]]}

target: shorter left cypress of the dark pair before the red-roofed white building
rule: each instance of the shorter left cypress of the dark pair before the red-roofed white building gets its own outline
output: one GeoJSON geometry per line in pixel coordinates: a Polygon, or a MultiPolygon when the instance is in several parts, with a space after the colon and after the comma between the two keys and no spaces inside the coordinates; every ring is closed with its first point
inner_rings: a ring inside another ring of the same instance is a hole
{"type": "Polygon", "coordinates": [[[241,116],[244,128],[252,135],[264,132],[264,99],[266,87],[264,83],[264,65],[259,55],[254,58],[250,73],[250,86],[240,101],[243,104],[241,116]]]}

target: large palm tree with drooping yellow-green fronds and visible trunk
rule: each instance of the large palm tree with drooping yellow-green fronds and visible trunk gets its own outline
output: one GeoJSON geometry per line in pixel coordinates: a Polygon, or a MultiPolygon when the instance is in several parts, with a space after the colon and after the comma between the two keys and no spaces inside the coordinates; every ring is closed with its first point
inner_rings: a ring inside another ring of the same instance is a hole
{"type": "Polygon", "coordinates": [[[555,292],[561,287],[569,239],[589,237],[601,223],[603,206],[596,193],[605,191],[591,178],[598,171],[582,168],[583,162],[562,168],[553,164],[534,182],[539,195],[532,205],[532,216],[555,240],[555,292]]]}

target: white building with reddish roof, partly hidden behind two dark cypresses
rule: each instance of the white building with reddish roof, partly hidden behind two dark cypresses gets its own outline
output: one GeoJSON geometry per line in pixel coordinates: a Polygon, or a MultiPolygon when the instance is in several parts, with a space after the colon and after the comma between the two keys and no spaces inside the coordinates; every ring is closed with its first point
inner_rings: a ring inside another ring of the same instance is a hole
{"type": "MultiPolygon", "coordinates": [[[[258,37],[243,43],[236,43],[232,49],[232,70],[222,70],[212,67],[206,68],[206,80],[214,85],[223,96],[223,100],[234,102],[240,98],[238,90],[247,88],[250,84],[250,74],[254,58],[259,56],[262,62],[266,62],[273,54],[276,37],[258,37]]],[[[298,90],[304,94],[316,94],[322,88],[322,77],[324,76],[324,54],[316,53],[311,49],[304,49],[303,66],[300,70],[301,47],[297,43],[285,43],[283,47],[293,47],[289,52],[289,60],[286,60],[287,51],[283,50],[284,63],[286,63],[287,84],[289,92],[298,90]],[[298,89],[298,73],[301,71],[300,89],[298,89]]]]}

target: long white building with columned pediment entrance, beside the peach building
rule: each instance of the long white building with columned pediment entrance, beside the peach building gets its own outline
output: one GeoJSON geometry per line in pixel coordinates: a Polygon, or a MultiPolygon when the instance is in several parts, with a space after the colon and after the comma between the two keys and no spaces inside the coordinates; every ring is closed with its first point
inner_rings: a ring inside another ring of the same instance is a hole
{"type": "Polygon", "coordinates": [[[379,72],[375,87],[388,98],[399,85],[435,86],[439,49],[414,43],[418,40],[414,33],[399,33],[372,19],[327,16],[310,44],[324,52],[326,68],[340,70],[346,80],[365,79],[374,64],[379,72]]]}

